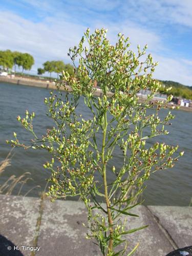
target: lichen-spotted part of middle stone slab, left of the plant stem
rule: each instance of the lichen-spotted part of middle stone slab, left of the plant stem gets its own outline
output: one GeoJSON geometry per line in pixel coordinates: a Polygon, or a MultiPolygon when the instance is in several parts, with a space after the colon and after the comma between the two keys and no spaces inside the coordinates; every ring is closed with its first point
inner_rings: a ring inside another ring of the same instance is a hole
{"type": "Polygon", "coordinates": [[[44,201],[36,255],[100,255],[98,246],[86,239],[87,212],[82,202],[44,201]]]}

